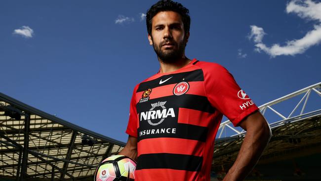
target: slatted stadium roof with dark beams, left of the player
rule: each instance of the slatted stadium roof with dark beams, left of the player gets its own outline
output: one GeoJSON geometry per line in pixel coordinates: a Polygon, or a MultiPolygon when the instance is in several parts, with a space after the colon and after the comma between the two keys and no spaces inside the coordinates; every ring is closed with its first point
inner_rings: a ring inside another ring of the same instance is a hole
{"type": "Polygon", "coordinates": [[[124,145],[0,93],[1,177],[92,178],[98,164],[124,145]]]}

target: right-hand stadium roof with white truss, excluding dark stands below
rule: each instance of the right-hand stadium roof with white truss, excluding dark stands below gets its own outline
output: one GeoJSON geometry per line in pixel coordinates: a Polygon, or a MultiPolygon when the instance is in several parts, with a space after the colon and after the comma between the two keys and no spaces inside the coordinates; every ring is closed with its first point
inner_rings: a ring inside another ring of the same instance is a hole
{"type": "MultiPolygon", "coordinates": [[[[281,119],[270,124],[273,136],[264,150],[259,164],[273,162],[276,159],[289,159],[305,156],[305,154],[321,153],[320,90],[321,83],[318,83],[259,106],[263,115],[266,114],[267,110],[270,110],[281,119]],[[317,108],[305,113],[304,111],[312,92],[315,92],[319,97],[319,99],[316,97],[313,100],[317,101],[317,108]],[[299,102],[293,104],[294,109],[288,116],[281,114],[281,111],[275,107],[273,108],[276,104],[302,94],[303,96],[299,99],[299,102]],[[296,112],[298,112],[297,115],[295,115],[296,112]]],[[[230,121],[225,121],[220,125],[219,138],[215,140],[214,146],[213,170],[222,170],[222,166],[229,167],[234,163],[245,136],[246,132],[244,130],[237,130],[229,126],[229,124],[231,124],[230,121]],[[234,134],[232,133],[228,137],[220,137],[226,129],[232,130],[234,134]]]]}

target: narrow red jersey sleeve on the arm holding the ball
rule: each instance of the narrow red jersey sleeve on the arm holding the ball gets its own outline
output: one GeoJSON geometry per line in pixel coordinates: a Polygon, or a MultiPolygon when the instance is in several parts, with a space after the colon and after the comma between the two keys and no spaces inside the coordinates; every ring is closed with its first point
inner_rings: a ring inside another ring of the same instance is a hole
{"type": "Polygon", "coordinates": [[[133,95],[130,100],[129,106],[129,120],[126,129],[126,134],[137,137],[137,110],[136,110],[136,91],[138,85],[134,88],[133,95]]]}

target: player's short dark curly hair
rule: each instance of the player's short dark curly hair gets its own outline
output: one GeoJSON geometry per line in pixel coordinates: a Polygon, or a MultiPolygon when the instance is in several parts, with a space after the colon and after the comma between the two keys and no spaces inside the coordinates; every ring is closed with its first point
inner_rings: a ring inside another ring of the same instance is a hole
{"type": "Polygon", "coordinates": [[[181,3],[174,2],[172,0],[160,0],[156,4],[152,5],[146,13],[146,25],[148,34],[152,35],[152,19],[161,11],[174,11],[181,15],[184,31],[187,34],[190,31],[191,17],[189,10],[184,7],[181,3]]]}

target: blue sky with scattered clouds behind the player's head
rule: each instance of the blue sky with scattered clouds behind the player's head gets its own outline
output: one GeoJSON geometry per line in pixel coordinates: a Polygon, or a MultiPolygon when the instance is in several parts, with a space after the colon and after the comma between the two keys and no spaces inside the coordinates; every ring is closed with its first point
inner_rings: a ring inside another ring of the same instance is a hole
{"type": "MultiPolygon", "coordinates": [[[[126,141],[132,90],[159,70],[141,20],[154,2],[1,1],[0,92],[126,141]]],[[[187,57],[225,66],[257,105],[321,82],[320,1],[179,2],[187,57]]]]}

